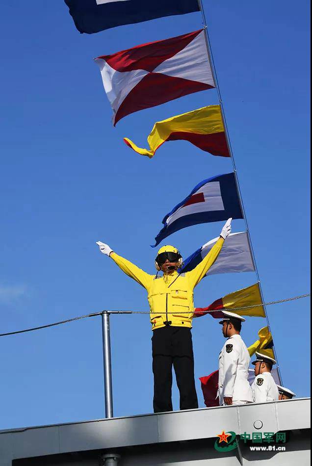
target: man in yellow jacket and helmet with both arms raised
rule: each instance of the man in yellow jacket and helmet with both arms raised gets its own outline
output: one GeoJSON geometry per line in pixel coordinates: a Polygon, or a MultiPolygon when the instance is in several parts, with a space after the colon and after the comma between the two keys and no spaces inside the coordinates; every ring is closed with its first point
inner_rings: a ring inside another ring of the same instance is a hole
{"type": "Polygon", "coordinates": [[[150,275],[118,256],[107,244],[97,242],[103,254],[113,259],[123,272],[147,290],[153,330],[154,413],[172,411],[172,366],[180,391],[180,409],[198,408],[191,335],[193,292],[231,233],[231,221],[232,218],[227,221],[220,238],[202,262],[187,273],[178,273],[182,257],[173,246],[159,249],[155,259],[157,274],[150,275]],[[162,276],[159,272],[162,272],[162,276]]]}

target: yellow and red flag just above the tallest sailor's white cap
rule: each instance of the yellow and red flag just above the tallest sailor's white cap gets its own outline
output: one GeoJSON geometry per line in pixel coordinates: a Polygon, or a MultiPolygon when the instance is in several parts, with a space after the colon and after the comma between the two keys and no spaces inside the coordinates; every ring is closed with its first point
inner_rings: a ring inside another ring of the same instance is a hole
{"type": "Polygon", "coordinates": [[[223,317],[223,309],[231,311],[231,309],[243,308],[245,306],[255,307],[235,310],[233,312],[239,315],[249,315],[250,317],[265,317],[264,308],[261,303],[260,287],[259,284],[256,283],[255,285],[234,291],[234,293],[227,294],[223,298],[217,299],[210,304],[208,308],[196,308],[194,311],[194,317],[210,314],[215,319],[220,319],[223,317]],[[256,306],[257,304],[259,304],[259,306],[256,306]]]}

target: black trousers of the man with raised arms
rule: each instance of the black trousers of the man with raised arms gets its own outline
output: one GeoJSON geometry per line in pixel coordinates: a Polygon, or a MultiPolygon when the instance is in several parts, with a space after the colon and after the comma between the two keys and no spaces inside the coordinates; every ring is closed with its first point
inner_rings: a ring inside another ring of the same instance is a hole
{"type": "Polygon", "coordinates": [[[153,332],[154,413],[172,411],[172,366],[180,391],[180,409],[198,408],[191,330],[162,327],[153,332]]]}

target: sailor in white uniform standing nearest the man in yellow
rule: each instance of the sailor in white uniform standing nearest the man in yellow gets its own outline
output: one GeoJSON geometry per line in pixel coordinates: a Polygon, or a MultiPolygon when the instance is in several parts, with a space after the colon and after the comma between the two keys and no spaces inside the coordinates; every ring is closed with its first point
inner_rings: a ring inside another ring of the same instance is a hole
{"type": "Polygon", "coordinates": [[[234,312],[223,311],[223,336],[227,338],[219,355],[219,404],[239,405],[253,402],[248,382],[250,356],[240,336],[241,324],[246,319],[234,312]]]}

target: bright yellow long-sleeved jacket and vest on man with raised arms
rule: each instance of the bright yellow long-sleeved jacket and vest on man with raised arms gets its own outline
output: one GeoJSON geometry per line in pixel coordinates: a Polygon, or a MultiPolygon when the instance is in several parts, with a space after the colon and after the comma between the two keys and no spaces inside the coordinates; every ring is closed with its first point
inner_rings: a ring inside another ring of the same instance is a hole
{"type": "Polygon", "coordinates": [[[166,325],[192,328],[193,290],[217,259],[223,243],[224,239],[220,237],[207,256],[193,270],[181,275],[176,271],[162,277],[150,275],[114,252],[110,257],[123,272],[147,290],[152,330],[166,325]]]}

